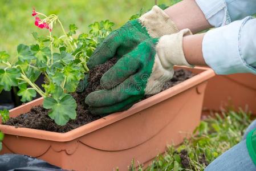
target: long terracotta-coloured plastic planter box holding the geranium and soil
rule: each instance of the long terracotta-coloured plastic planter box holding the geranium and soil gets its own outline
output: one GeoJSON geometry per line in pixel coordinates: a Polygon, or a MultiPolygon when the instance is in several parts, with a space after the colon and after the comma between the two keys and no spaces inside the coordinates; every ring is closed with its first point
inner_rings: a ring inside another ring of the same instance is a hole
{"type": "MultiPolygon", "coordinates": [[[[136,103],[67,133],[0,125],[5,133],[3,153],[27,154],[64,169],[127,170],[132,158],[146,163],[163,153],[166,144],[178,145],[200,123],[207,68],[189,69],[198,74],[136,103]]],[[[15,117],[42,104],[37,99],[10,111],[15,117]]],[[[136,162],[137,164],[137,162],[136,162]]]]}

